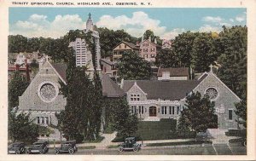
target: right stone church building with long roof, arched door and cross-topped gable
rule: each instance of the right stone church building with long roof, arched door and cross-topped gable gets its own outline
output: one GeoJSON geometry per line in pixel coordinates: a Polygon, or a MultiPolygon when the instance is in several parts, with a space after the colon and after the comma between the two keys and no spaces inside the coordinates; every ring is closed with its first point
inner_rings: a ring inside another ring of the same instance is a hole
{"type": "Polygon", "coordinates": [[[124,80],[121,88],[127,95],[131,113],[144,121],[180,117],[186,95],[192,91],[209,95],[215,102],[218,129],[237,129],[235,103],[241,99],[211,70],[196,80],[124,80]]]}

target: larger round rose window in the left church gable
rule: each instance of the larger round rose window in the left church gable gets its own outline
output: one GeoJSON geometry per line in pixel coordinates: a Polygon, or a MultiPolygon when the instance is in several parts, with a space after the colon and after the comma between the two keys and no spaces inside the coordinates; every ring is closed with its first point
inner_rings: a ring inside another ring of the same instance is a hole
{"type": "Polygon", "coordinates": [[[50,83],[44,83],[40,89],[40,95],[44,101],[51,101],[56,93],[55,87],[50,83]]]}

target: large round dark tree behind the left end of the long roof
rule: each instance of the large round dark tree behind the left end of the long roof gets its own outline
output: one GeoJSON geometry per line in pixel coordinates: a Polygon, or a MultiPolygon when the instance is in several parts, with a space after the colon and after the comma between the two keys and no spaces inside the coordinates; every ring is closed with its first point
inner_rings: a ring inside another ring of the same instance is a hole
{"type": "Polygon", "coordinates": [[[119,77],[125,80],[150,79],[152,75],[150,63],[135,52],[125,52],[118,68],[119,77]]]}

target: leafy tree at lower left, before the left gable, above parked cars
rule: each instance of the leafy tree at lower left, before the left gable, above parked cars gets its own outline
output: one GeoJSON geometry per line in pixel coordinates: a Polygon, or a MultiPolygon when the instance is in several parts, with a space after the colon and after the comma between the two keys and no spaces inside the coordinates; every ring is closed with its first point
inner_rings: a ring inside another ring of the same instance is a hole
{"type": "Polygon", "coordinates": [[[38,125],[30,120],[30,113],[17,114],[17,110],[9,110],[8,132],[12,141],[33,142],[37,141],[39,136],[38,125]]]}

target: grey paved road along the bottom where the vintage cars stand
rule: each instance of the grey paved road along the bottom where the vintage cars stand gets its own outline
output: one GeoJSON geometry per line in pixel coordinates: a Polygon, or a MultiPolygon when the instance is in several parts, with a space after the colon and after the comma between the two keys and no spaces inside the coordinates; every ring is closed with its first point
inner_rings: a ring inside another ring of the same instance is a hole
{"type": "MultiPolygon", "coordinates": [[[[50,149],[48,154],[54,154],[50,149]]],[[[139,152],[118,152],[111,149],[79,149],[75,155],[246,155],[246,147],[234,143],[230,145],[206,145],[205,147],[144,147],[139,152]]],[[[60,154],[61,155],[61,154],[60,154]]]]}

